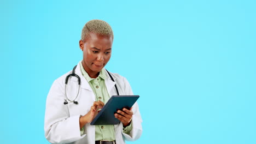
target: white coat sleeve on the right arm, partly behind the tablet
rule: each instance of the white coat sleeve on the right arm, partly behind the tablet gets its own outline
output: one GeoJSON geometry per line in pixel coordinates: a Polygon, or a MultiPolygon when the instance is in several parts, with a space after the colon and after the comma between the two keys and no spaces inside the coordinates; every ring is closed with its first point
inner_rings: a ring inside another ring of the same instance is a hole
{"type": "MultiPolygon", "coordinates": [[[[130,83],[124,78],[125,83],[125,94],[133,95],[130,83]]],[[[132,130],[130,134],[125,134],[122,130],[122,134],[127,141],[135,141],[141,137],[142,134],[142,118],[141,113],[139,113],[138,103],[136,102],[132,106],[133,116],[132,116],[132,130]]],[[[121,123],[123,128],[123,123],[121,123]]]]}

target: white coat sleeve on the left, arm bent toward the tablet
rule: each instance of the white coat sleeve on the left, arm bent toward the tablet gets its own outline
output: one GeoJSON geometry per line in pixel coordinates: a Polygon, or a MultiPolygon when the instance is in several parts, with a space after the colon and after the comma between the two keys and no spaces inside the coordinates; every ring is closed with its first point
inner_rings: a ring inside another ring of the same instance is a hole
{"type": "Polygon", "coordinates": [[[70,143],[82,139],[80,115],[69,117],[68,107],[63,104],[65,89],[61,81],[55,80],[46,99],[44,131],[51,143],[70,143]]]}

